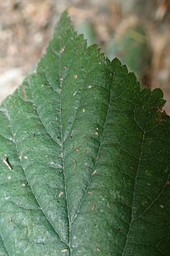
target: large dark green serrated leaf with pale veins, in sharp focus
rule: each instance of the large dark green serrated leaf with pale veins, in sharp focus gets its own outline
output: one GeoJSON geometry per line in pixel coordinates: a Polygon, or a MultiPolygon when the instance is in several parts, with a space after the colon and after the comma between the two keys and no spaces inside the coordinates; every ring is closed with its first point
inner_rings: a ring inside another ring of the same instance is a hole
{"type": "Polygon", "coordinates": [[[0,255],[170,255],[164,103],[63,13],[1,105],[0,255]]]}

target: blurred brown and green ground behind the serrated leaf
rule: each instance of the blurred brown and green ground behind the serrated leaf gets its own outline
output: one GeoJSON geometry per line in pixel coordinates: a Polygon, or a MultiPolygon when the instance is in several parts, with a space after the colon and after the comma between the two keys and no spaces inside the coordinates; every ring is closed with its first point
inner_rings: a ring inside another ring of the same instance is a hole
{"type": "Polygon", "coordinates": [[[169,0],[0,0],[0,102],[35,69],[68,6],[88,45],[117,56],[142,84],[162,88],[170,114],[169,0]]]}

